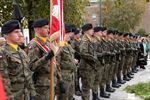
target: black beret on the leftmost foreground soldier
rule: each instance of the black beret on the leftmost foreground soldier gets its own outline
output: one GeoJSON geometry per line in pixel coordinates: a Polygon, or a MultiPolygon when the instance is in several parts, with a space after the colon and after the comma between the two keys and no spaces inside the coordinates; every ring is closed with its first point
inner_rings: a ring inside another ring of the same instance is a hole
{"type": "Polygon", "coordinates": [[[20,23],[18,20],[10,20],[6,23],[3,24],[2,29],[1,29],[1,34],[6,34],[9,32],[12,32],[15,29],[20,29],[20,23]]]}

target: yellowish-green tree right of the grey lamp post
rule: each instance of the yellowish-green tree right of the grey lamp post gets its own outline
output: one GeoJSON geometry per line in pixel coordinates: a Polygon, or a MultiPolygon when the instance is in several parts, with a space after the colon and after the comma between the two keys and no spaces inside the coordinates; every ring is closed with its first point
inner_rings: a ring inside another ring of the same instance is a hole
{"type": "Polygon", "coordinates": [[[133,30],[140,24],[145,11],[143,0],[106,0],[103,10],[103,25],[120,31],[133,30]]]}

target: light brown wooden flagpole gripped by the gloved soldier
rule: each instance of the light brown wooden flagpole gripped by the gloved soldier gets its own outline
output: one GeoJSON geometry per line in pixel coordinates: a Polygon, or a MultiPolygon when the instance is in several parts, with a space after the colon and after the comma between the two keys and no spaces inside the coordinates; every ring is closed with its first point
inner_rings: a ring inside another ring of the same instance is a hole
{"type": "MultiPolygon", "coordinates": [[[[52,14],[52,0],[50,0],[50,20],[51,18],[51,14],[52,14]]],[[[54,100],[54,68],[55,68],[55,64],[54,64],[54,57],[50,60],[50,100],[54,100]]]]}

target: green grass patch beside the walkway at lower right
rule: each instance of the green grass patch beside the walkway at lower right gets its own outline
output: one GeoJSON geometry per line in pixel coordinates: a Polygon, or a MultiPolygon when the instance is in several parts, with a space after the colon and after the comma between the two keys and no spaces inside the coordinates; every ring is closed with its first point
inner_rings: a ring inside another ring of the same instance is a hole
{"type": "Polygon", "coordinates": [[[129,93],[134,93],[135,95],[144,98],[144,100],[150,100],[150,82],[127,86],[124,90],[129,93]]]}

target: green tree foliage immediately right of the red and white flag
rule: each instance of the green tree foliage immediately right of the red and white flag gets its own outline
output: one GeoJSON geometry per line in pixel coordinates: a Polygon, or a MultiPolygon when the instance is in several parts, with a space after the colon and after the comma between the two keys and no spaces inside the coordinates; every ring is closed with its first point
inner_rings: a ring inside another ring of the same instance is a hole
{"type": "Polygon", "coordinates": [[[89,0],[64,0],[64,21],[81,26],[84,22],[83,14],[89,0]]]}

